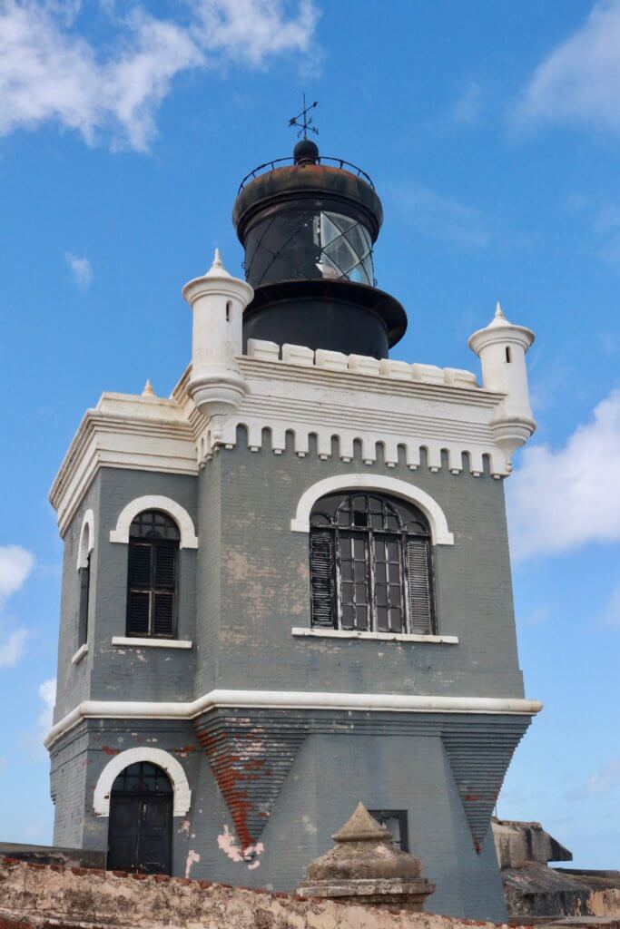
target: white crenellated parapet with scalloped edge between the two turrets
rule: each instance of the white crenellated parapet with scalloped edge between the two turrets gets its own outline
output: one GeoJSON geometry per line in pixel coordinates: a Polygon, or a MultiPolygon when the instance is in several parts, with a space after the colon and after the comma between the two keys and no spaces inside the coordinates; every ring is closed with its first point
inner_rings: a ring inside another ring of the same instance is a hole
{"type": "MultiPolygon", "coordinates": [[[[195,423],[201,465],[234,447],[241,428],[251,451],[282,454],[288,442],[299,457],[361,456],[388,467],[401,460],[411,470],[474,477],[486,461],[495,478],[510,473],[493,425],[505,397],[478,386],[473,373],[253,339],[238,362],[248,393],[226,419],[195,423]]],[[[187,402],[185,378],[173,396],[187,402]]]]}

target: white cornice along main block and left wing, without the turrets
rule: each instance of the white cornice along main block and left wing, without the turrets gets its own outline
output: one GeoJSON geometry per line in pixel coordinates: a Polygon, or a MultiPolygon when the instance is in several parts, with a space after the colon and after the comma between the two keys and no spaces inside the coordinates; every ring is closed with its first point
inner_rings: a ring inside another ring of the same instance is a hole
{"type": "MultiPolygon", "coordinates": [[[[253,451],[261,447],[267,428],[276,454],[284,451],[290,433],[299,456],[309,453],[315,436],[322,458],[331,457],[336,439],[336,454],[345,462],[359,441],[368,465],[382,457],[394,467],[403,450],[414,470],[423,454],[431,471],[440,470],[446,452],[454,474],[465,467],[480,476],[484,456],[495,478],[510,471],[494,426],[505,395],[477,386],[473,374],[402,361],[336,358],[334,352],[317,352],[314,362],[301,365],[291,363],[295,352],[283,350],[287,360],[281,360],[279,347],[270,343],[254,343],[252,350],[252,357],[237,357],[249,393],[229,417],[205,420],[196,409],[188,392],[190,368],[170,399],[103,394],[97,408],[86,412],[50,491],[61,534],[100,467],[197,475],[214,451],[236,444],[239,426],[247,430],[253,451]]],[[[521,432],[532,431],[521,421],[517,425],[521,432]]]]}

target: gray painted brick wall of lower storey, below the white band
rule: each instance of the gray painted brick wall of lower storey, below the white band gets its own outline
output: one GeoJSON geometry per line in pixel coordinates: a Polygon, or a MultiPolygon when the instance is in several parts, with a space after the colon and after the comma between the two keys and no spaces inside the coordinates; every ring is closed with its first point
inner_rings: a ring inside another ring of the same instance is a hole
{"type": "MultiPolygon", "coordinates": [[[[277,768],[282,763],[282,755],[272,756],[266,716],[253,720],[251,731],[261,743],[269,773],[270,765],[275,763],[277,768]]],[[[53,752],[55,782],[65,792],[54,841],[105,850],[108,818],[95,815],[93,809],[99,775],[118,752],[152,746],[178,760],[191,786],[190,810],[174,819],[173,872],[178,876],[189,872],[195,878],[291,891],[305,878],[309,862],[331,846],[333,833],[362,800],[371,809],[407,811],[410,850],[424,862],[424,876],[437,883],[432,909],[503,920],[493,838],[489,831],[477,853],[442,737],[442,726],[454,726],[455,717],[417,714],[416,720],[406,721],[396,713],[378,714],[378,718],[368,713],[357,714],[356,719],[350,714],[348,719],[332,717],[314,713],[305,722],[297,720],[298,729],[306,726],[305,739],[293,752],[259,844],[247,859],[241,854],[231,805],[220,791],[191,724],[89,720],[53,752]],[[65,757],[71,760],[63,764],[65,757]],[[72,821],[84,816],[81,832],[66,821],[72,802],[76,810],[72,821]]],[[[465,718],[459,720],[471,725],[465,718]]],[[[281,721],[273,722],[274,728],[281,728],[281,721]]],[[[479,766],[476,756],[483,739],[495,741],[490,728],[494,725],[495,719],[477,719],[478,734],[470,739],[473,771],[479,766]]],[[[469,789],[475,789],[475,776],[469,789]]],[[[264,798],[269,785],[257,784],[257,791],[264,798]]]]}

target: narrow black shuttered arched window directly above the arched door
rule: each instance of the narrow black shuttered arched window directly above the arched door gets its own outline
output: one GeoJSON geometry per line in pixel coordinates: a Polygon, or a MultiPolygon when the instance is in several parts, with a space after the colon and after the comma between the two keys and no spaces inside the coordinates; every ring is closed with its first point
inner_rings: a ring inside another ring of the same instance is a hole
{"type": "Polygon", "coordinates": [[[177,624],[178,526],[166,513],[139,513],[129,528],[127,635],[173,638],[177,624]]]}

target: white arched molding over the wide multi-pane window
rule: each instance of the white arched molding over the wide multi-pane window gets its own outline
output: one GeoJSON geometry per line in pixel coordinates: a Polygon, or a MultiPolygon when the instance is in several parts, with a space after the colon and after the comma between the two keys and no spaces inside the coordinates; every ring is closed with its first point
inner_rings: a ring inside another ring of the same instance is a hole
{"type": "Polygon", "coordinates": [[[399,478],[386,478],[378,474],[344,474],[335,478],[324,478],[312,484],[299,497],[297,513],[291,519],[293,532],[310,532],[310,513],[313,505],[328,493],[337,491],[386,491],[395,497],[401,497],[416,504],[428,517],[430,533],[435,545],[454,545],[455,537],[448,529],[448,521],[442,507],[429,493],[422,491],[415,484],[409,484],[399,478]]]}

